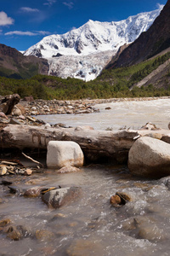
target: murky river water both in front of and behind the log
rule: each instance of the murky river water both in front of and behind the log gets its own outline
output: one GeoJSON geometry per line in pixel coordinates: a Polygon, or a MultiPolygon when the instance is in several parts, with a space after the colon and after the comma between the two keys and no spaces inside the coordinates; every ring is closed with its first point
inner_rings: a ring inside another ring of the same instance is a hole
{"type": "MultiPolygon", "coordinates": [[[[138,128],[151,121],[166,128],[169,103],[170,99],[117,102],[98,106],[101,113],[50,115],[47,119],[49,123],[62,122],[73,126],[83,123],[102,129],[122,125],[138,128]],[[111,110],[106,111],[108,106],[111,110]]],[[[41,197],[13,195],[7,186],[0,185],[1,219],[10,218],[14,226],[21,225],[26,229],[26,237],[20,241],[11,241],[0,232],[2,256],[169,255],[170,191],[160,180],[133,177],[127,166],[98,165],[83,167],[77,173],[59,174],[55,170],[43,170],[31,177],[1,179],[12,181],[21,189],[58,185],[82,188],[77,201],[54,210],[49,209],[41,197]],[[122,207],[111,207],[110,198],[116,191],[127,193],[132,201],[122,207]],[[38,230],[43,230],[44,235],[38,237],[38,230]]]]}

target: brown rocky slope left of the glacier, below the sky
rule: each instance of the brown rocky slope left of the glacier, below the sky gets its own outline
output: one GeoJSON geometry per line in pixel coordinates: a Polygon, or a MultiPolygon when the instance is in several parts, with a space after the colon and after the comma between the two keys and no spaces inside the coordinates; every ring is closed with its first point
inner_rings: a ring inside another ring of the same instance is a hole
{"type": "Polygon", "coordinates": [[[27,79],[37,73],[48,74],[48,61],[24,56],[17,49],[0,44],[0,76],[27,79]]]}

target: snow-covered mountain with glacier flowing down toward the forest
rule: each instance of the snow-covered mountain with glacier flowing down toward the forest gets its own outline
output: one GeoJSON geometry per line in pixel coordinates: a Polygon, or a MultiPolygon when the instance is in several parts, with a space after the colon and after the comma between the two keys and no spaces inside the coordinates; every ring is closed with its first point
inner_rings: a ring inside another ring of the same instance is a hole
{"type": "Polygon", "coordinates": [[[88,20],[63,35],[51,35],[31,46],[24,55],[48,59],[49,74],[61,78],[95,79],[123,44],[130,44],[145,32],[160,9],[130,16],[127,20],[88,20]]]}

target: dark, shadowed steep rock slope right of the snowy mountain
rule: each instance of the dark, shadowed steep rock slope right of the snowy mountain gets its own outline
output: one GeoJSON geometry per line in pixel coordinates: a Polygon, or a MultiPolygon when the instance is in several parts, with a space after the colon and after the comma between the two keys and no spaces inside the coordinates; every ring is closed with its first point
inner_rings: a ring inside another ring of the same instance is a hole
{"type": "Polygon", "coordinates": [[[170,0],[162,9],[161,14],[156,18],[147,32],[143,32],[133,44],[125,49],[118,60],[108,67],[125,67],[150,56],[156,55],[170,47],[170,0]]]}

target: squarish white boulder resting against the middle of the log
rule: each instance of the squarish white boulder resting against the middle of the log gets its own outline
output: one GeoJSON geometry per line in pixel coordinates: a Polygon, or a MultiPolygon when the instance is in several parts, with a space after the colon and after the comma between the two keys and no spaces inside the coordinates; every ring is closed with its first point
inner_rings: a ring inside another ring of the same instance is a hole
{"type": "Polygon", "coordinates": [[[48,168],[63,166],[83,166],[84,155],[77,143],[67,141],[51,141],[48,143],[48,168]]]}

